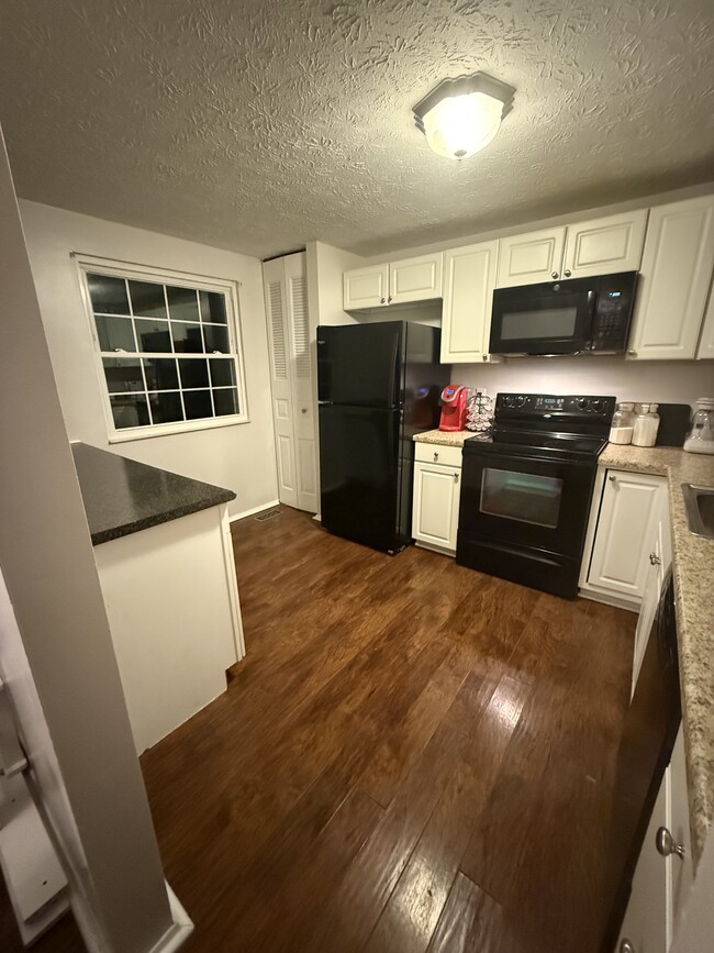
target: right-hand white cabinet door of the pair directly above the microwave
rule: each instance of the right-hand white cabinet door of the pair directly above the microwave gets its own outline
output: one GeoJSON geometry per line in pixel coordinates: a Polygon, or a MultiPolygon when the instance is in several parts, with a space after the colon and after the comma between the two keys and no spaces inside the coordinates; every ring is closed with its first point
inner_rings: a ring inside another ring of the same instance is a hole
{"type": "Polygon", "coordinates": [[[564,277],[637,272],[643,259],[647,209],[568,225],[564,277]]]}

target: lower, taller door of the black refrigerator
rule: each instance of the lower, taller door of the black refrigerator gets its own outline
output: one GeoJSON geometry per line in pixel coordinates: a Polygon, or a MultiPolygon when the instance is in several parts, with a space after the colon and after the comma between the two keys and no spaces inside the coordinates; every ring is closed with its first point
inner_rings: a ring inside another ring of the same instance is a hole
{"type": "Polygon", "coordinates": [[[325,529],[383,552],[399,528],[399,410],[320,406],[320,477],[325,529]]]}

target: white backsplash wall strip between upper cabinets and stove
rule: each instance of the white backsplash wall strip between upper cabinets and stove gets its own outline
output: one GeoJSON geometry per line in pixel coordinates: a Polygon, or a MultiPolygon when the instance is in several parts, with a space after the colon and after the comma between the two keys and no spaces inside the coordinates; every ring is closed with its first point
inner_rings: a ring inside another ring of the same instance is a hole
{"type": "Polygon", "coordinates": [[[503,364],[455,364],[455,384],[489,394],[600,394],[618,400],[689,403],[714,396],[712,361],[625,361],[624,357],[512,358],[503,364]]]}

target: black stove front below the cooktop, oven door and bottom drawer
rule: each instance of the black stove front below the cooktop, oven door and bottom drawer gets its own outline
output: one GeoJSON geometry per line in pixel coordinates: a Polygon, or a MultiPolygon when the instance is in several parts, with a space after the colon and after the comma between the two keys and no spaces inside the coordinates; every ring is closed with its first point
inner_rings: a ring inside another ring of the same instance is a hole
{"type": "Polygon", "coordinates": [[[574,597],[595,470],[594,459],[465,453],[457,563],[574,597]]]}

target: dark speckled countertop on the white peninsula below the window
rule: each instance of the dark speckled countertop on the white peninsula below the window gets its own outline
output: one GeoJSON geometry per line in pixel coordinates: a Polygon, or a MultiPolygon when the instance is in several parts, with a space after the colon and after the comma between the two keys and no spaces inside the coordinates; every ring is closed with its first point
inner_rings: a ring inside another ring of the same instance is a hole
{"type": "Polygon", "coordinates": [[[232,490],[86,443],[71,450],[94,546],[235,499],[232,490]]]}

